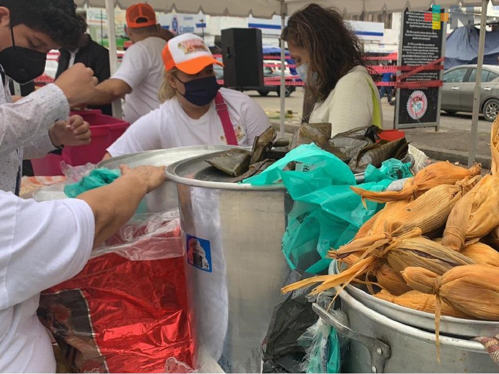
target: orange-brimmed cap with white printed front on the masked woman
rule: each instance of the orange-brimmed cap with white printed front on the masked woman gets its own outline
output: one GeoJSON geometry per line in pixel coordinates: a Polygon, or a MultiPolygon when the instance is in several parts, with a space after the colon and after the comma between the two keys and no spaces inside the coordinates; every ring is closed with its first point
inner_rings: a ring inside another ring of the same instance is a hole
{"type": "Polygon", "coordinates": [[[224,64],[213,57],[203,39],[194,34],[182,34],[168,40],[163,49],[166,71],[177,68],[186,74],[198,74],[208,65],[224,64]]]}

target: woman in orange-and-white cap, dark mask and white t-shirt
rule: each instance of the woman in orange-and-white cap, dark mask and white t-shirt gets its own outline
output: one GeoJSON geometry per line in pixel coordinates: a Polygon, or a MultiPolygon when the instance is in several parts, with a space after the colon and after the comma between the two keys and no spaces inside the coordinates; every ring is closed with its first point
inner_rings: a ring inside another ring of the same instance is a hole
{"type": "Polygon", "coordinates": [[[163,50],[165,81],[159,109],[137,120],[106,158],[174,147],[230,144],[251,146],[270,123],[263,110],[239,91],[221,88],[215,59],[203,39],[182,34],[163,50]]]}

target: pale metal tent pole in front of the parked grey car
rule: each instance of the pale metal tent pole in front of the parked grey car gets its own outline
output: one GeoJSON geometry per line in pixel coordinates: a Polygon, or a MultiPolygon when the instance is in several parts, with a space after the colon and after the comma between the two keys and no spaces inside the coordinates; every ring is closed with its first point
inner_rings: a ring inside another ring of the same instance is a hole
{"type": "Polygon", "coordinates": [[[484,64],[485,33],[487,24],[487,5],[489,0],[482,0],[482,18],[480,21],[480,38],[478,42],[477,78],[475,80],[475,94],[473,96],[473,116],[471,121],[470,153],[468,165],[471,167],[477,154],[478,115],[480,111],[480,92],[482,81],[482,65],[484,64]]]}

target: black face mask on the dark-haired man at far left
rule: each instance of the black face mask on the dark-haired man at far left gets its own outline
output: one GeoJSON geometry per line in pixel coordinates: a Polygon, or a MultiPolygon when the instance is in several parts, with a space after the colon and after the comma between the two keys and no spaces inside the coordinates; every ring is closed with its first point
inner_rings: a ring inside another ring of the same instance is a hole
{"type": "Polygon", "coordinates": [[[20,84],[38,78],[45,71],[47,54],[33,49],[17,47],[14,43],[14,28],[10,28],[12,46],[0,51],[0,65],[5,74],[20,84]]]}

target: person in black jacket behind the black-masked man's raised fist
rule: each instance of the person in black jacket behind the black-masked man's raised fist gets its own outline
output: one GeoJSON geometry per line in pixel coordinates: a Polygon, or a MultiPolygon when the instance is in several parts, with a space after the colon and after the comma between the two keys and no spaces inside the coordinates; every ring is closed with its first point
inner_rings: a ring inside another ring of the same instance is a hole
{"type": "MultiPolygon", "coordinates": [[[[83,63],[94,71],[99,83],[111,76],[109,68],[109,50],[92,40],[89,34],[84,34],[77,49],[70,51],[60,49],[59,66],[56,78],[77,62],[83,63]]],[[[111,104],[88,106],[89,109],[100,109],[103,114],[112,116],[111,104]]]]}

